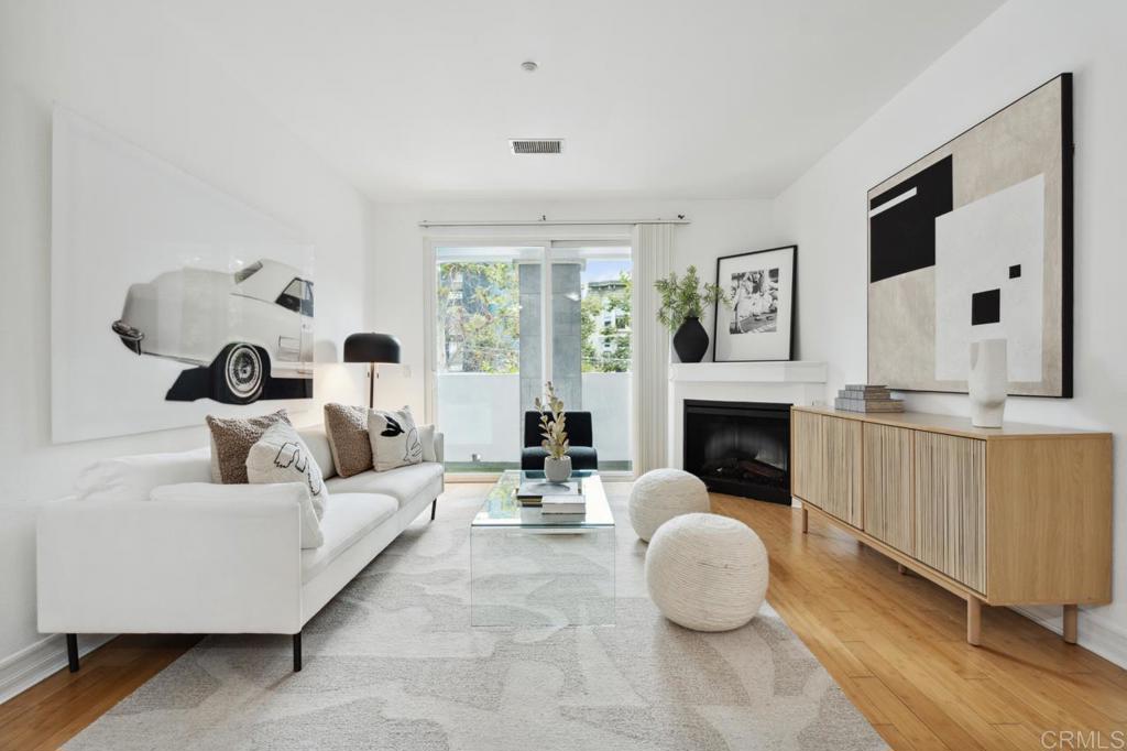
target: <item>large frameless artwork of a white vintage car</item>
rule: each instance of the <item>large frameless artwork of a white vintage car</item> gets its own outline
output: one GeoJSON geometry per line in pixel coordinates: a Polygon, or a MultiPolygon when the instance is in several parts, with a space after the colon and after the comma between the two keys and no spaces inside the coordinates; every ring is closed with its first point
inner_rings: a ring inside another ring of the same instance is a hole
{"type": "Polygon", "coordinates": [[[52,157],[55,442],[312,398],[298,232],[63,107],[52,157]]]}

